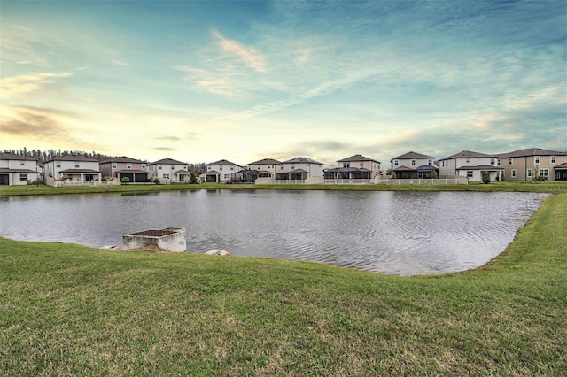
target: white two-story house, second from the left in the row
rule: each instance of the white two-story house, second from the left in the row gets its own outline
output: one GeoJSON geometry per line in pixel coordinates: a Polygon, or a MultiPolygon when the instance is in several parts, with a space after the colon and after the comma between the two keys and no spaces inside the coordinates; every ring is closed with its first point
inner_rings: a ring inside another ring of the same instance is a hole
{"type": "Polygon", "coordinates": [[[66,155],[52,158],[43,164],[45,183],[58,186],[55,181],[66,181],[72,184],[100,182],[98,160],[81,155],[66,155]]]}

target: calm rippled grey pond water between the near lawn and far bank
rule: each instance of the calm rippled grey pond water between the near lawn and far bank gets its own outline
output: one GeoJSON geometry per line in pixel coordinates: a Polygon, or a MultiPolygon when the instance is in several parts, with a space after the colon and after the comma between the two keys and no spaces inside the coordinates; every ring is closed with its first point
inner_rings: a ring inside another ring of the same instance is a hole
{"type": "Polygon", "coordinates": [[[409,275],[484,265],[545,195],[198,190],[0,198],[0,235],[121,245],[121,235],[185,227],[187,248],[409,275]]]}

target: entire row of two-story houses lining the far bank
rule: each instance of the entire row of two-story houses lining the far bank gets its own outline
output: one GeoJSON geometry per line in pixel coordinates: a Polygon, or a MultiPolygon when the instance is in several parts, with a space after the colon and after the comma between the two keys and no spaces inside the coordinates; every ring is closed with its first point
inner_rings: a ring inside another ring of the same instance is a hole
{"type": "MultiPolygon", "coordinates": [[[[4,151],[0,153],[0,185],[25,185],[43,181],[50,186],[120,185],[146,183],[314,183],[314,184],[432,184],[490,181],[567,181],[567,152],[531,148],[486,154],[462,150],[436,158],[410,150],[390,159],[384,170],[376,158],[355,154],[323,167],[314,158],[285,161],[262,158],[246,165],[227,159],[206,164],[194,172],[190,164],[173,158],[148,162],[120,156],[97,159],[67,154],[41,162],[4,151]],[[197,174],[198,175],[197,178],[197,174]],[[453,180],[453,181],[449,181],[453,180]]],[[[192,165],[191,165],[192,166],[192,165]]]]}

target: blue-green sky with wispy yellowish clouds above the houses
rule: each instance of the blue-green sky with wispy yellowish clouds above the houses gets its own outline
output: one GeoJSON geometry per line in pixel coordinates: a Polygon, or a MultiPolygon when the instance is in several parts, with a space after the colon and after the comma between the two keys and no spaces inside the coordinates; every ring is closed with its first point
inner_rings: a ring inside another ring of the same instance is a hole
{"type": "Polygon", "coordinates": [[[0,150],[567,151],[567,2],[0,3],[0,150]]]}

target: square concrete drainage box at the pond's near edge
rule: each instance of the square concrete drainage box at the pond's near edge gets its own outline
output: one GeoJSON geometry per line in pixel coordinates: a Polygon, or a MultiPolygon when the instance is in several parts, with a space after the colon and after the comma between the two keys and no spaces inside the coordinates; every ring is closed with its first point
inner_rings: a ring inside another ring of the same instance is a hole
{"type": "Polygon", "coordinates": [[[159,249],[182,252],[187,251],[185,228],[166,227],[163,229],[147,229],[141,232],[122,235],[124,250],[144,249],[156,245],[159,249]]]}

